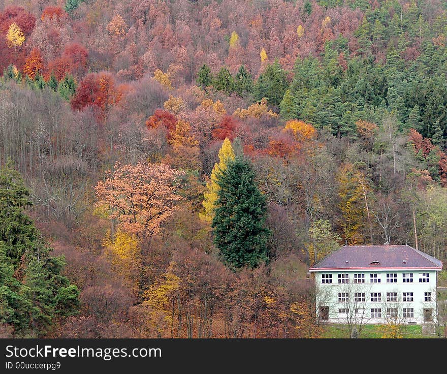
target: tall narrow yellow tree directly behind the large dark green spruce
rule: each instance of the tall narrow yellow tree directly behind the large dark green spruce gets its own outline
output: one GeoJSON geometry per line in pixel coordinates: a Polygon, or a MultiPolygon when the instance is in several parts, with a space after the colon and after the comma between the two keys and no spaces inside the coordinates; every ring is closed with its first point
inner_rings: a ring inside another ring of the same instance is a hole
{"type": "Polygon", "coordinates": [[[214,217],[214,207],[217,201],[217,193],[219,192],[219,185],[217,184],[217,173],[227,169],[227,163],[229,160],[234,160],[235,155],[231,142],[228,138],[222,143],[219,150],[219,163],[214,164],[214,168],[211,172],[211,180],[206,183],[206,192],[204,192],[204,200],[202,202],[205,212],[200,213],[201,219],[211,222],[214,217]]]}

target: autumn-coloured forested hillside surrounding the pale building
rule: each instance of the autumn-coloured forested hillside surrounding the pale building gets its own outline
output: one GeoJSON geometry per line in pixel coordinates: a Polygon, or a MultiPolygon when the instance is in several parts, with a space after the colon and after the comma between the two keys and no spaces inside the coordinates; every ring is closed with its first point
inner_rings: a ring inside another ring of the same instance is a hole
{"type": "Polygon", "coordinates": [[[442,0],[0,0],[0,336],[318,337],[347,244],[447,262],[442,0]]]}

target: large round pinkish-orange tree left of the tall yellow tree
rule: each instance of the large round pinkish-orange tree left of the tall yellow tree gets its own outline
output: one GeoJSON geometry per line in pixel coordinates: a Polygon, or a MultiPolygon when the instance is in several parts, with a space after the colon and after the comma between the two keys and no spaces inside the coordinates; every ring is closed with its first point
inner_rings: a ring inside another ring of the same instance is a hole
{"type": "Polygon", "coordinates": [[[156,234],[176,209],[175,179],[180,172],[163,164],[121,165],[107,170],[95,186],[98,207],[119,227],[144,239],[156,234]]]}

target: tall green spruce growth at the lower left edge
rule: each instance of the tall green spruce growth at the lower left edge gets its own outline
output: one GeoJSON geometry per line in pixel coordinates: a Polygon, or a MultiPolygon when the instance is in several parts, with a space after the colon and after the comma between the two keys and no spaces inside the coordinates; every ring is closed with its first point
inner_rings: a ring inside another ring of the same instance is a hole
{"type": "Polygon", "coordinates": [[[73,314],[79,291],[61,275],[62,256],[50,256],[34,223],[23,213],[29,191],[12,163],[0,168],[0,324],[15,336],[39,336],[56,316],[73,314]]]}

